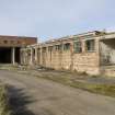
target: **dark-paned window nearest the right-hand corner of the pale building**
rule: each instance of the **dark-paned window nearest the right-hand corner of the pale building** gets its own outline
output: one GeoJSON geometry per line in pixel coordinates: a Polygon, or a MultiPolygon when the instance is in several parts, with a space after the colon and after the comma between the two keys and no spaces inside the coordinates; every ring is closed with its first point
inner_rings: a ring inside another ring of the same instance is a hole
{"type": "Polygon", "coordinates": [[[85,50],[87,51],[94,51],[94,49],[95,49],[94,39],[85,41],[85,50]]]}

